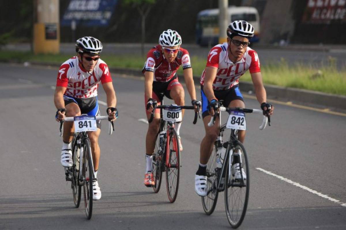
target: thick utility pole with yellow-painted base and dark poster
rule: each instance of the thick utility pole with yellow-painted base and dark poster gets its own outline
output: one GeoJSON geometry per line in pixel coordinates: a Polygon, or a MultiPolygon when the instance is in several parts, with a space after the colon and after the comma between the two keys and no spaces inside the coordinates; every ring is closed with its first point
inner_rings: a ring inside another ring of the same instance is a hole
{"type": "Polygon", "coordinates": [[[59,53],[59,0],[33,0],[34,53],[59,53]]]}

